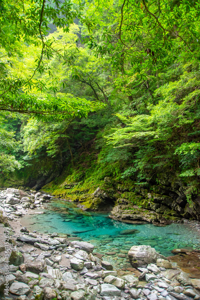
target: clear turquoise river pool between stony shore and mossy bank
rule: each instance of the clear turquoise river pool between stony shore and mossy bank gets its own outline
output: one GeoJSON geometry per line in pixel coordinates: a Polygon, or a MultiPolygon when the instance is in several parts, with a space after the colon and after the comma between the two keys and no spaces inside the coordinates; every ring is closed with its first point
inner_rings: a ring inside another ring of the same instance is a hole
{"type": "Polygon", "coordinates": [[[47,208],[40,210],[45,213],[23,217],[22,225],[41,233],[59,232],[81,237],[84,241],[94,244],[96,252],[128,252],[133,245],[149,244],[157,252],[169,256],[174,248],[200,248],[200,233],[187,224],[157,227],[149,223],[123,223],[110,219],[109,214],[82,211],[74,203],[63,199],[51,199],[47,208]],[[120,234],[124,229],[137,229],[140,233],[120,234]]]}

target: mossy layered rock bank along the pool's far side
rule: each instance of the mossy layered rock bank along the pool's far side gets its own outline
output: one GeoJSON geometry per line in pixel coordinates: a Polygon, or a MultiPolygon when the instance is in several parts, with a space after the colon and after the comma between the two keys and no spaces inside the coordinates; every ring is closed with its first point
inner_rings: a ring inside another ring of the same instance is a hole
{"type": "Polygon", "coordinates": [[[156,181],[139,184],[131,180],[120,182],[112,177],[104,177],[96,188],[83,181],[66,184],[69,179],[68,176],[56,187],[52,183],[47,184],[44,189],[78,202],[83,210],[111,210],[111,218],[130,223],[169,224],[181,222],[182,218],[200,220],[199,196],[188,201],[184,182],[176,173],[161,173],[156,181]]]}

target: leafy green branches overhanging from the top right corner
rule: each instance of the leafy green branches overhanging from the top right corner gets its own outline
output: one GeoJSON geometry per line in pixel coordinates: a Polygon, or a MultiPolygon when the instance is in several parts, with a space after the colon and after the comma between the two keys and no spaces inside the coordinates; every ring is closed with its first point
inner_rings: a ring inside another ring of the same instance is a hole
{"type": "MultiPolygon", "coordinates": [[[[131,97],[133,79],[151,92],[149,75],[172,63],[200,59],[199,3],[196,1],[120,0],[87,4],[93,18],[85,39],[96,57],[109,61],[114,82],[131,97]]],[[[158,78],[157,78],[158,79],[158,78]]],[[[158,85],[158,83],[157,83],[158,85]]]]}

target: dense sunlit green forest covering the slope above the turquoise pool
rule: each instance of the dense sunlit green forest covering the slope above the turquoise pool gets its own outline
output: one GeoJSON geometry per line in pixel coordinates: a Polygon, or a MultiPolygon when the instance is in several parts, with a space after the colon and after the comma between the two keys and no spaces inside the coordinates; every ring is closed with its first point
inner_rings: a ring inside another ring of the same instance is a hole
{"type": "Polygon", "coordinates": [[[9,0],[0,12],[1,187],[102,209],[99,187],[103,206],[199,219],[199,2],[9,0]]]}

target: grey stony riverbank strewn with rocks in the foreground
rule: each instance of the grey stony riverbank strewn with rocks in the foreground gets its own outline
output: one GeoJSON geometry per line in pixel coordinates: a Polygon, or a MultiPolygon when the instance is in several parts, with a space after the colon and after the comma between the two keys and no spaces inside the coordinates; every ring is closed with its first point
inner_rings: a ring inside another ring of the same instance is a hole
{"type": "Polygon", "coordinates": [[[126,258],[129,262],[129,266],[116,268],[109,259],[104,258],[105,253],[94,252],[94,245],[88,241],[65,234],[41,234],[37,232],[37,228],[34,232],[29,232],[27,228],[20,226],[18,217],[28,214],[30,209],[42,206],[49,200],[48,197],[50,196],[16,189],[1,192],[2,300],[200,298],[198,249],[174,249],[172,253],[175,255],[166,258],[149,245],[134,245],[129,250],[107,253],[114,258],[126,258]],[[8,281],[5,260],[7,232],[8,281]]]}

